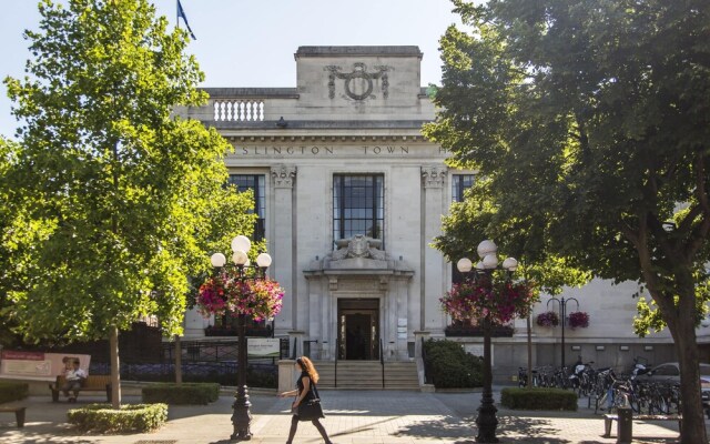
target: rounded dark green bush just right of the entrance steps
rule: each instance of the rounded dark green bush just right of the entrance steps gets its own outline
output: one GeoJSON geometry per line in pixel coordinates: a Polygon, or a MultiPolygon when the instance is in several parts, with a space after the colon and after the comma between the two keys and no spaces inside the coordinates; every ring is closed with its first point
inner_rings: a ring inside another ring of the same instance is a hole
{"type": "Polygon", "coordinates": [[[424,343],[427,375],[436,389],[470,389],[483,383],[483,360],[453,341],[424,343]]]}

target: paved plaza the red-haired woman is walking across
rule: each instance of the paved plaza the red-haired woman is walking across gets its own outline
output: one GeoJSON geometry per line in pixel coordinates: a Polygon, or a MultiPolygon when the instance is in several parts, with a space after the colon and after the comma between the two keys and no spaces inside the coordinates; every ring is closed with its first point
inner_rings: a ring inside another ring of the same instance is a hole
{"type": "MultiPolygon", "coordinates": [[[[417,393],[381,391],[325,391],[321,393],[323,421],[335,444],[468,444],[474,443],[474,418],[480,393],[417,393]]],[[[495,394],[499,400],[498,393],[495,394]]],[[[72,444],[227,444],[232,433],[232,397],[224,394],[205,406],[171,406],[169,422],[150,434],[77,435],[67,421],[67,410],[82,403],[101,402],[82,396],[78,404],[52,403],[49,396],[31,396],[24,404],[27,423],[17,428],[12,414],[0,415],[0,443],[72,444]]],[[[291,424],[290,400],[275,392],[253,393],[251,443],[283,444],[291,424]]],[[[140,396],[123,396],[138,403],[140,396]]],[[[578,412],[521,412],[498,406],[498,436],[501,443],[592,444],[616,443],[605,438],[604,421],[580,400],[578,412]]],[[[673,443],[673,422],[633,424],[633,443],[673,443]]],[[[612,436],[616,436],[616,423],[612,436]]],[[[311,423],[301,423],[295,443],[322,443],[311,423]]]]}

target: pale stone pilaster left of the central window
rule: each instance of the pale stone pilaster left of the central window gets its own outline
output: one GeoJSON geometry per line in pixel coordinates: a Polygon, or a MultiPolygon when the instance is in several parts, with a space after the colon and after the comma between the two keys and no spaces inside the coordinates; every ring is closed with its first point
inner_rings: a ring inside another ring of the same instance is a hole
{"type": "Polygon", "coordinates": [[[273,239],[271,240],[274,263],[270,274],[277,280],[286,291],[284,305],[276,317],[276,327],[282,332],[296,329],[298,325],[296,307],[298,293],[294,276],[295,263],[295,230],[293,220],[293,184],[296,179],[296,168],[276,165],[271,169],[274,186],[273,239]]]}

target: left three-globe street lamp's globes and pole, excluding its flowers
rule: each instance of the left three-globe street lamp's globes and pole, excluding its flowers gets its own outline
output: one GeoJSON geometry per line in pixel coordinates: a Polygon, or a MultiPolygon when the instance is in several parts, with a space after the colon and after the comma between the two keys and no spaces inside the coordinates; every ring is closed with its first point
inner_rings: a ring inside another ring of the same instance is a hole
{"type": "MultiPolygon", "coordinates": [[[[237,235],[232,240],[232,262],[236,268],[236,279],[241,282],[246,280],[264,280],[266,279],[266,269],[271,265],[271,256],[266,253],[261,253],[256,258],[256,266],[250,266],[248,256],[246,253],[251,250],[252,242],[248,238],[237,235]],[[247,270],[253,269],[253,274],[247,275],[247,270]]],[[[222,253],[214,253],[210,258],[212,266],[215,269],[222,269],[226,264],[226,258],[222,253]]],[[[250,407],[252,403],[248,401],[248,387],[246,386],[246,367],[247,367],[247,353],[246,353],[246,314],[237,313],[236,333],[237,341],[237,367],[236,367],[236,393],[234,394],[234,404],[232,405],[232,425],[234,427],[231,441],[248,441],[252,438],[252,432],[250,425],[252,423],[252,414],[250,407]]]]}

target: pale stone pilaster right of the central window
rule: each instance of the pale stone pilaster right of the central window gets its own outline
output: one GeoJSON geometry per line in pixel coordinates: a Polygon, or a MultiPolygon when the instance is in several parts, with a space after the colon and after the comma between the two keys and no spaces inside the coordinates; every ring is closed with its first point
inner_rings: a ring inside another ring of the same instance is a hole
{"type": "Polygon", "coordinates": [[[442,214],[444,206],[447,170],[440,165],[422,167],[424,186],[424,206],[422,209],[422,326],[433,333],[442,332],[446,326],[445,316],[439,307],[439,297],[446,285],[446,263],[444,256],[429,244],[442,234],[442,214]]]}

